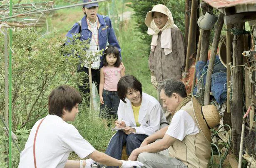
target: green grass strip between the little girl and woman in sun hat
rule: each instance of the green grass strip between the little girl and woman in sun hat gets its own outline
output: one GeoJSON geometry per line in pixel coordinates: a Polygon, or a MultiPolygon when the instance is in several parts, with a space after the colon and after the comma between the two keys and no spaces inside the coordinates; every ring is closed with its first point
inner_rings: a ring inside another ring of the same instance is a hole
{"type": "Polygon", "coordinates": [[[121,32],[119,43],[122,49],[122,60],[126,68],[126,74],[134,75],[141,83],[142,90],[157,98],[157,91],[150,82],[150,70],[148,67],[149,46],[139,39],[142,34],[135,29],[135,22],[128,22],[126,30],[121,32]]]}

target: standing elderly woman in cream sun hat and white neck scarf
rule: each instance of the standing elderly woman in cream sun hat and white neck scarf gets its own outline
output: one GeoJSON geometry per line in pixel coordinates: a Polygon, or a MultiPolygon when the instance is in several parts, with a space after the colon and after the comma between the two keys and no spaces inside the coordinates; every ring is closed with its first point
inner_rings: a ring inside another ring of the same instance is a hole
{"type": "MultiPolygon", "coordinates": [[[[149,69],[151,82],[154,87],[164,79],[180,80],[185,67],[185,50],[183,36],[174,24],[171,11],[162,4],[155,5],[147,12],[145,19],[149,35],[152,35],[151,51],[149,54],[149,69]]],[[[158,100],[162,105],[159,98],[158,100]]],[[[170,114],[166,113],[167,122],[170,114]]]]}

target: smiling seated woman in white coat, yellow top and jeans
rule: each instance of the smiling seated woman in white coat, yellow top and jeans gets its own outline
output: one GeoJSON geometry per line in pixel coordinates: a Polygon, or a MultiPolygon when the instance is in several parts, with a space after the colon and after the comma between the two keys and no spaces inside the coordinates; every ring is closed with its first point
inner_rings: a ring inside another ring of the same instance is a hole
{"type": "Polygon", "coordinates": [[[116,126],[125,129],[114,134],[105,153],[121,159],[124,144],[129,156],[147,136],[158,131],[160,125],[163,127],[168,123],[159,102],[142,93],[142,84],[133,75],[125,75],[119,80],[117,93],[121,100],[116,126]]]}

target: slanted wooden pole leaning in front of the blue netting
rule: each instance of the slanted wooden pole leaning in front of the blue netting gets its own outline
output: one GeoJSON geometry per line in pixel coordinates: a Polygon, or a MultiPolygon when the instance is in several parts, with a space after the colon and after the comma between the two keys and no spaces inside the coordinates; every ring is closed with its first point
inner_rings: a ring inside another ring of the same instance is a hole
{"type": "Polygon", "coordinates": [[[220,12],[219,18],[216,23],[214,39],[211,46],[211,56],[210,56],[207,75],[206,75],[206,84],[205,84],[205,90],[204,90],[204,105],[209,105],[209,102],[210,102],[211,74],[213,73],[214,62],[215,62],[217,48],[219,44],[219,38],[221,36],[221,29],[224,23],[223,17],[224,17],[224,14],[220,12]]]}

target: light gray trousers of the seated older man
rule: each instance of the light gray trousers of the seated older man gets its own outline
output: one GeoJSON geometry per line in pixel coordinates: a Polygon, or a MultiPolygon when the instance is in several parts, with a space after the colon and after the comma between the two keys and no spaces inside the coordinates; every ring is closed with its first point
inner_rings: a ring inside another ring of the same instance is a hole
{"type": "Polygon", "coordinates": [[[168,150],[159,153],[140,153],[138,161],[144,164],[142,168],[187,168],[182,161],[170,157],[168,150]]]}

